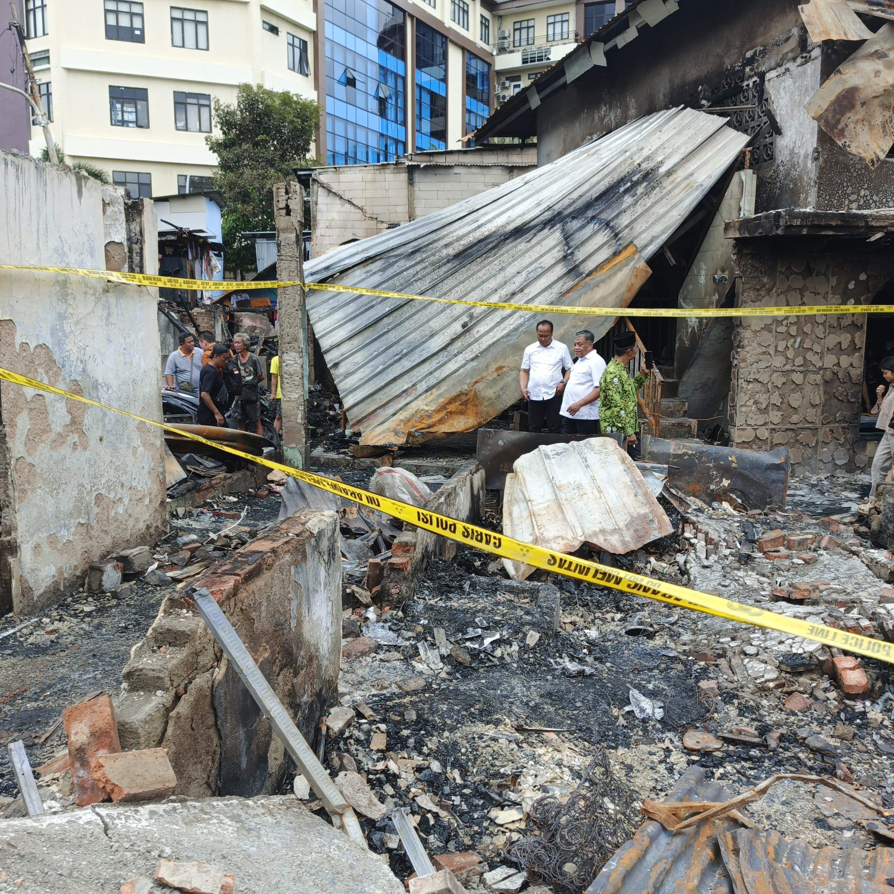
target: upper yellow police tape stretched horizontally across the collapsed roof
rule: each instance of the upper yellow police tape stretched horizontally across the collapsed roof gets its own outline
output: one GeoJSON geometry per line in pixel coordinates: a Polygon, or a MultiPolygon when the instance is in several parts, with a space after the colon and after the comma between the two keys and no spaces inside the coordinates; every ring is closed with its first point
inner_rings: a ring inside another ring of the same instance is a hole
{"type": "Polygon", "coordinates": [[[0,270],[31,270],[41,273],[64,274],[66,276],[88,276],[109,283],[129,283],[131,285],[155,286],[159,289],[211,289],[214,291],[251,291],[255,289],[280,289],[302,286],[316,291],[341,291],[346,295],[372,295],[374,298],[394,298],[399,300],[433,301],[436,304],[461,304],[470,308],[491,308],[498,310],[521,310],[532,314],[559,314],[569,316],[817,316],[820,314],[894,314],[894,304],[814,304],[791,308],[582,308],[561,304],[512,304],[508,301],[470,301],[454,298],[432,298],[430,295],[410,295],[402,291],[384,289],[363,289],[356,285],[334,283],[301,283],[299,280],[279,282],[276,280],[249,280],[234,283],[230,280],[190,280],[173,276],[152,276],[150,274],[122,274],[114,270],[82,270],[79,267],[37,267],[16,264],[0,264],[0,270]],[[223,288],[222,288],[223,287],[223,288]]]}

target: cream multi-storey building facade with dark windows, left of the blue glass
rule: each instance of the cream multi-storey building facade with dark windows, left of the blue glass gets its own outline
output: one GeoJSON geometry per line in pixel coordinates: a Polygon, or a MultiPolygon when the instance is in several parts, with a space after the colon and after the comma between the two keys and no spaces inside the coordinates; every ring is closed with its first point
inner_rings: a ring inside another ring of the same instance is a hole
{"type": "MultiPolygon", "coordinates": [[[[317,98],[312,0],[25,3],[56,143],[133,195],[174,195],[213,173],[210,104],[232,102],[240,83],[317,98]]],[[[32,127],[30,154],[42,148],[32,127]]]]}

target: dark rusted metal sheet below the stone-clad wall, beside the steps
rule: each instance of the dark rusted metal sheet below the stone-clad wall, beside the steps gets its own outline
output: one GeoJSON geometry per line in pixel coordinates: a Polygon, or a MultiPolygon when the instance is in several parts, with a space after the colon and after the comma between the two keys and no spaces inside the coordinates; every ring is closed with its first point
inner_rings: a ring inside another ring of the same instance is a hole
{"type": "Polygon", "coordinates": [[[712,502],[742,503],[746,509],[785,509],[789,492],[789,449],[771,451],[669,441],[644,434],[643,460],[669,469],[671,487],[712,502]]]}

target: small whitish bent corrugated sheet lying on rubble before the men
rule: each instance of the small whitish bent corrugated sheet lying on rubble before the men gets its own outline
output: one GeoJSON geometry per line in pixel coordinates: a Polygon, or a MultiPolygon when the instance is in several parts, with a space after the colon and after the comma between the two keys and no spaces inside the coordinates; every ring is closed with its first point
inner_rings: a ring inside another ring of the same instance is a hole
{"type": "MultiPolygon", "coordinates": [[[[673,533],[636,464],[609,437],[545,444],[506,476],[503,531],[526,544],[575,552],[582,544],[621,555],[673,533]]],[[[503,560],[510,577],[534,570],[503,560]]]]}

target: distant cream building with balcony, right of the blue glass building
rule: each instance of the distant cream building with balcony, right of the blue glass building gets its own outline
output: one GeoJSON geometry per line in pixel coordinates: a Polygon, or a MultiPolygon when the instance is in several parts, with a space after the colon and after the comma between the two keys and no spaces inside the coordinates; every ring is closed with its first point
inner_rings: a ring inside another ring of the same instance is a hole
{"type": "Polygon", "coordinates": [[[490,0],[496,103],[527,89],[632,0],[490,0]]]}

